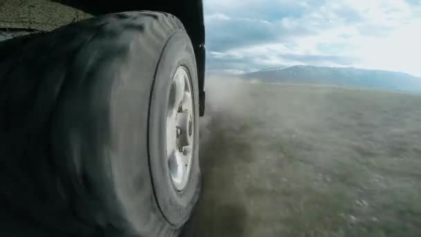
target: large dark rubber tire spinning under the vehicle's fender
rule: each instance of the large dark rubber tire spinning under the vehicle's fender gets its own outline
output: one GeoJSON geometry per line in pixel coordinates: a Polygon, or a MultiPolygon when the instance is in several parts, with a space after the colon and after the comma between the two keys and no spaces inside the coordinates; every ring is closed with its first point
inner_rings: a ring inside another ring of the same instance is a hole
{"type": "Polygon", "coordinates": [[[18,220],[75,236],[177,236],[188,220],[200,188],[199,96],[176,17],[123,12],[35,37],[0,61],[0,109],[1,205],[18,220]],[[180,68],[192,105],[181,189],[167,155],[180,68]]]}

